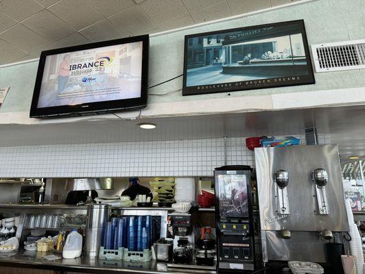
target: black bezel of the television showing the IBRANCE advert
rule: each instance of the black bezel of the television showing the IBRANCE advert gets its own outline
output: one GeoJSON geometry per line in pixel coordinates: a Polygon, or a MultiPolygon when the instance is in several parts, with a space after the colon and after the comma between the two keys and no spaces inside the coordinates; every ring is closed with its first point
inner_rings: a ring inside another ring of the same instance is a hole
{"type": "Polygon", "coordinates": [[[54,118],[56,116],[78,116],[85,114],[100,114],[115,112],[121,110],[141,109],[147,106],[148,101],[148,51],[150,39],[148,34],[108,40],[102,42],[93,42],[86,45],[73,47],[64,47],[60,49],[51,49],[40,53],[38,71],[36,75],[36,84],[32,97],[30,108],[30,118],[54,118]],[[141,72],[141,97],[132,99],[121,99],[113,101],[99,101],[92,103],[82,103],[78,105],[58,105],[54,107],[38,108],[38,98],[40,95],[40,86],[42,85],[43,71],[45,69],[45,60],[48,55],[60,53],[69,53],[72,51],[82,51],[84,49],[96,49],[99,47],[108,47],[113,45],[128,44],[130,42],[143,42],[142,45],[142,72],[141,72]]]}

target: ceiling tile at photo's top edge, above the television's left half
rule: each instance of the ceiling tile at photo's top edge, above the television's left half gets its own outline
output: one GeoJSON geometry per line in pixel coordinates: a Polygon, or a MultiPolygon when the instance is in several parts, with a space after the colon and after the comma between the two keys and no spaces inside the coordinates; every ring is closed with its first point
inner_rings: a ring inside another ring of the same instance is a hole
{"type": "Polygon", "coordinates": [[[61,0],[49,7],[49,10],[77,30],[84,29],[104,18],[86,0],[61,0]]]}

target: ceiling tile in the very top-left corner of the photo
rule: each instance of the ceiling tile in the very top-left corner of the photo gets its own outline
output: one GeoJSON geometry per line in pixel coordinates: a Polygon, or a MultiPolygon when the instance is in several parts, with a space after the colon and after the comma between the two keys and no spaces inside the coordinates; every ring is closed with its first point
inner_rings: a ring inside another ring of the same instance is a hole
{"type": "Polygon", "coordinates": [[[0,10],[15,20],[22,21],[25,18],[43,10],[43,6],[39,5],[34,0],[1,0],[0,10]]]}

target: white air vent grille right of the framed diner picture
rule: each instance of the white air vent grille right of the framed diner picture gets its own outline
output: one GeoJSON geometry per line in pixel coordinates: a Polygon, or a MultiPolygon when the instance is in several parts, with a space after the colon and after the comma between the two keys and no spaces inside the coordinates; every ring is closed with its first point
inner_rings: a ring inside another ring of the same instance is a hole
{"type": "Polygon", "coordinates": [[[365,69],[365,40],[311,45],[316,72],[365,69]]]}

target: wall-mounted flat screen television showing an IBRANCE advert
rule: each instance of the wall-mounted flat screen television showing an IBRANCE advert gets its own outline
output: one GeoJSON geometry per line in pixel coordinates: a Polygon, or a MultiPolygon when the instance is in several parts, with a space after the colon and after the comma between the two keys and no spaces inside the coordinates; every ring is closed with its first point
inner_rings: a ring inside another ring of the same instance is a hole
{"type": "Polygon", "coordinates": [[[148,35],[40,53],[30,117],[144,108],[148,35]]]}

